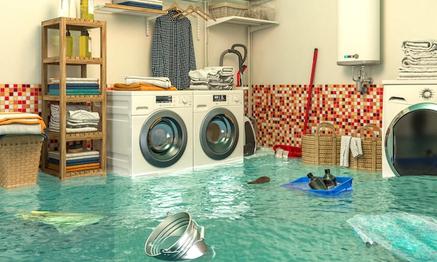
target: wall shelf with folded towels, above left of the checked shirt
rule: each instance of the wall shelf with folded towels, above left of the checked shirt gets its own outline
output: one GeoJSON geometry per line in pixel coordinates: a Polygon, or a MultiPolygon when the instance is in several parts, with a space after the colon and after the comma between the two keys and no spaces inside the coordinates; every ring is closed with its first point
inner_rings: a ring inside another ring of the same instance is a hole
{"type": "Polygon", "coordinates": [[[95,13],[121,14],[121,15],[142,15],[145,17],[165,15],[167,11],[135,6],[123,6],[113,3],[101,3],[94,7],[95,13]]]}

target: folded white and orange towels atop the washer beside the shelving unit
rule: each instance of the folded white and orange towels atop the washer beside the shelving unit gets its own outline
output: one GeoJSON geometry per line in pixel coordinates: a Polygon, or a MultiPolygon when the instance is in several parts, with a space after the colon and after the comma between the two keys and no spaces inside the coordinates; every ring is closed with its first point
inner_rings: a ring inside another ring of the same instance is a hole
{"type": "Polygon", "coordinates": [[[115,91],[177,91],[168,77],[124,77],[126,84],[114,84],[115,91]]]}

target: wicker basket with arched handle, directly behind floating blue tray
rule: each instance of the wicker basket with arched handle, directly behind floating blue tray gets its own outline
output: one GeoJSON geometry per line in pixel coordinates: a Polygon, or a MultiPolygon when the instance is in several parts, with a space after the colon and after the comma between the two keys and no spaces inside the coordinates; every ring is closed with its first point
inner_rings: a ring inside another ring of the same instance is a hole
{"type": "Polygon", "coordinates": [[[340,164],[341,137],[336,135],[332,123],[323,122],[314,134],[302,136],[302,162],[304,164],[340,164]],[[320,133],[325,128],[327,132],[320,133]]]}

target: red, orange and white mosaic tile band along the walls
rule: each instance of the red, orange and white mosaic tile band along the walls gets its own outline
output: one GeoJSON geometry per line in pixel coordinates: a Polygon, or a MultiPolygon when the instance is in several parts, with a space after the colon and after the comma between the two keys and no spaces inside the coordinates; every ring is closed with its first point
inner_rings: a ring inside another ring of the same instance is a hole
{"type": "MultiPolygon", "coordinates": [[[[0,112],[40,114],[40,89],[40,84],[0,84],[0,112]]],[[[307,85],[253,86],[251,115],[258,121],[261,146],[300,146],[307,94],[307,85]]],[[[318,123],[324,121],[334,124],[337,134],[351,135],[357,127],[369,123],[381,127],[382,110],[382,85],[371,85],[365,95],[353,85],[316,85],[312,90],[306,133],[313,133],[318,123]]]]}

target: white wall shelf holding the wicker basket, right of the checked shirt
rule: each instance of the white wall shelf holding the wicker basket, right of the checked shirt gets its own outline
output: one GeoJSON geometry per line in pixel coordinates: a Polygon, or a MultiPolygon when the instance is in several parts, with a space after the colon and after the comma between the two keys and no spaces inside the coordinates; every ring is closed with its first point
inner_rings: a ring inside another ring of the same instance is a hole
{"type": "Polygon", "coordinates": [[[215,26],[217,24],[231,24],[231,25],[239,25],[239,26],[249,26],[251,32],[254,32],[261,29],[266,29],[271,26],[279,25],[279,22],[276,21],[260,20],[255,18],[239,17],[239,16],[221,17],[221,18],[217,18],[216,20],[217,21],[213,21],[213,20],[207,21],[207,27],[215,26]]]}

